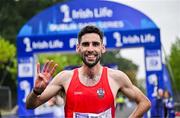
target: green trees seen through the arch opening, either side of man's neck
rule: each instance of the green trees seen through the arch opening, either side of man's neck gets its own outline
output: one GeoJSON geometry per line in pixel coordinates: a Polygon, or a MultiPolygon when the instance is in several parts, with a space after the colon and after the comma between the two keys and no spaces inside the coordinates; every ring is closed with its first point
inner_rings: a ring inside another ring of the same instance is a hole
{"type": "MultiPolygon", "coordinates": [[[[131,81],[137,85],[136,81],[136,73],[137,73],[137,65],[133,64],[130,60],[124,58],[116,58],[117,51],[106,52],[101,59],[101,63],[103,65],[107,64],[117,64],[118,69],[124,71],[131,79],[131,81]]],[[[56,73],[63,70],[67,65],[79,66],[82,64],[81,58],[77,54],[62,54],[62,53],[46,53],[39,54],[38,60],[41,64],[44,64],[45,61],[54,60],[54,62],[58,63],[59,68],[56,73]]]]}

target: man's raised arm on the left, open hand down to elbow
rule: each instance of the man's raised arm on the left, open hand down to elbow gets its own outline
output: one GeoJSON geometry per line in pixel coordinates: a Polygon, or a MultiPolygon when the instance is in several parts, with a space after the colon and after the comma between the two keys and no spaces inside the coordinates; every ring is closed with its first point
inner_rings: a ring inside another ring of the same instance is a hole
{"type": "Polygon", "coordinates": [[[37,78],[33,91],[26,98],[26,108],[34,109],[57,94],[61,88],[56,82],[58,75],[48,84],[56,68],[57,64],[47,61],[40,72],[40,64],[37,64],[37,78]]]}

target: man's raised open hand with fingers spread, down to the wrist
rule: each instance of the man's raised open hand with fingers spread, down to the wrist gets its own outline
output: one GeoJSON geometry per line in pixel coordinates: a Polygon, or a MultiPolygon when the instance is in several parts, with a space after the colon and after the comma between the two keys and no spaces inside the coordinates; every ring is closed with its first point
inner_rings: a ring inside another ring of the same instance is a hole
{"type": "Polygon", "coordinates": [[[52,78],[58,64],[55,64],[53,60],[47,60],[44,64],[42,72],[40,71],[40,64],[37,63],[37,78],[35,80],[34,93],[40,95],[47,87],[50,79],[52,78]]]}

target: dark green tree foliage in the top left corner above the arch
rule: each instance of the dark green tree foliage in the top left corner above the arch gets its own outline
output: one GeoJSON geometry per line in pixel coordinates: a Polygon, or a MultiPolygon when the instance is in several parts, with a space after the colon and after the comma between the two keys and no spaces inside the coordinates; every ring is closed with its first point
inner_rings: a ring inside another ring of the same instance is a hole
{"type": "Polygon", "coordinates": [[[16,44],[16,35],[31,17],[65,0],[1,0],[0,36],[16,44]]]}

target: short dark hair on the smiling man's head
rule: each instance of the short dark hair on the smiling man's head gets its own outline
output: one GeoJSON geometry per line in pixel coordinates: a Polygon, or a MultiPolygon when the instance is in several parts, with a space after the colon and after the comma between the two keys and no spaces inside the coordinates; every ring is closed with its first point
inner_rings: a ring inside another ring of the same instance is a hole
{"type": "Polygon", "coordinates": [[[87,33],[96,33],[99,35],[101,42],[103,42],[103,32],[96,26],[88,25],[81,29],[78,34],[78,43],[81,42],[81,37],[87,33]]]}

